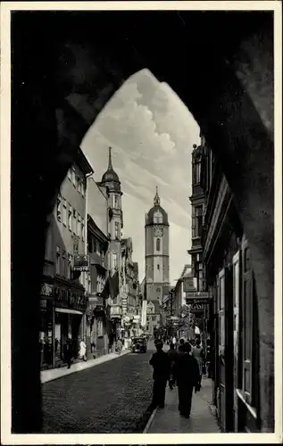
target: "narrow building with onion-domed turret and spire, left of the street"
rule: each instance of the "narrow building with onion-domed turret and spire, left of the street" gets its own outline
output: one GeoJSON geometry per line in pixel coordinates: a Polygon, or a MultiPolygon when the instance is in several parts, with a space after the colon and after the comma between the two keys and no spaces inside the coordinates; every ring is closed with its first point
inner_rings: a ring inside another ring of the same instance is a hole
{"type": "Polygon", "coordinates": [[[112,167],[112,149],[109,147],[108,168],[98,186],[107,192],[108,206],[108,248],[110,301],[107,314],[112,324],[111,344],[121,337],[122,319],[122,277],[121,277],[121,230],[123,227],[123,213],[121,207],[121,182],[112,167]]]}

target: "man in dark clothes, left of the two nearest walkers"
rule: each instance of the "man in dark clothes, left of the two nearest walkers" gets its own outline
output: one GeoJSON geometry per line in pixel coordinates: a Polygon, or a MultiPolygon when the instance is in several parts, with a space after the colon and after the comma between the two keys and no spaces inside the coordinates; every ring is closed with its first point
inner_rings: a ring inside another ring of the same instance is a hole
{"type": "Polygon", "coordinates": [[[162,351],[163,344],[155,343],[156,352],[150,359],[149,364],[154,368],[154,394],[153,409],[163,408],[165,403],[165,389],[170,378],[171,361],[167,353],[162,351]]]}

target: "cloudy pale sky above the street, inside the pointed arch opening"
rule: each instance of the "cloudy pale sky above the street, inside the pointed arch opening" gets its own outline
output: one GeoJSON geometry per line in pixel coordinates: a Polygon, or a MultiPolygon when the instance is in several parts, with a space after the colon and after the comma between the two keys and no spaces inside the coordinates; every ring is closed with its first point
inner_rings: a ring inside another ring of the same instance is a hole
{"type": "Polygon", "coordinates": [[[158,186],[170,222],[171,285],[191,263],[191,153],[199,127],[171,87],[149,70],[129,78],[89,128],[81,149],[101,181],[112,147],[113,169],[121,181],[123,237],[133,241],[139,280],[145,277],[145,215],[158,186]]]}

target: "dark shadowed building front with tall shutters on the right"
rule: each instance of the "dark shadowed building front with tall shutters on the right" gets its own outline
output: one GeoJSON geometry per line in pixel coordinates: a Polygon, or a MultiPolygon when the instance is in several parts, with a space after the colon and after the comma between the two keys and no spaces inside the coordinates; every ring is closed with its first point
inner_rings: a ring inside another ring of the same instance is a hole
{"type": "Polygon", "coordinates": [[[258,307],[251,254],[221,160],[203,140],[201,186],[204,292],[212,296],[207,318],[211,333],[213,401],[223,432],[258,432],[258,307]]]}

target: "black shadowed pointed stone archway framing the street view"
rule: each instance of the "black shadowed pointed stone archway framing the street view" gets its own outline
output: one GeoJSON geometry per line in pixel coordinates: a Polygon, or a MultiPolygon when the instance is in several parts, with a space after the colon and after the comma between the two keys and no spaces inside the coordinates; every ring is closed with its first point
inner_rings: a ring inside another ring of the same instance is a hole
{"type": "Polygon", "coordinates": [[[163,15],[162,26],[154,15],[146,24],[141,17],[112,18],[115,39],[107,33],[110,19],[105,21],[102,15],[95,37],[93,17],[57,13],[46,19],[26,13],[12,21],[15,433],[41,429],[37,296],[46,216],[87,128],[123,79],[145,67],[166,80],[187,104],[221,157],[234,193],[253,252],[258,291],[261,398],[266,402],[262,430],[273,428],[272,18],[209,14],[163,15]],[[224,44],[217,31],[220,26],[224,44]],[[150,37],[142,43],[141,32],[150,37]],[[23,364],[29,366],[23,369],[23,364]]]}

